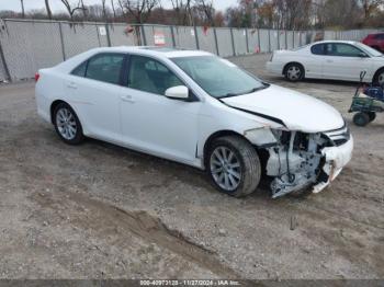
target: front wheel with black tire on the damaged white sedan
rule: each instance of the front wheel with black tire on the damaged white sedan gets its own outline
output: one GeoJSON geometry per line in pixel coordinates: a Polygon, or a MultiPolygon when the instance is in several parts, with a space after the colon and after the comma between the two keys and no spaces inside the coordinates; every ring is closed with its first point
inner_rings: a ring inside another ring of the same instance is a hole
{"type": "Polygon", "coordinates": [[[238,136],[226,136],[215,139],[208,148],[205,162],[212,182],[222,193],[242,197],[255,192],[259,185],[261,177],[260,159],[256,149],[246,139],[238,136]],[[233,158],[231,160],[224,161],[225,163],[217,164],[217,152],[223,151],[223,149],[227,154],[227,160],[230,157],[229,151],[233,152],[233,158]],[[237,165],[238,168],[233,169],[233,167],[237,165]],[[217,167],[222,167],[222,172],[215,172],[219,170],[217,167]],[[237,177],[235,177],[234,172],[237,173],[237,177]],[[224,183],[222,182],[222,184],[219,183],[219,173],[224,174],[224,177],[222,177],[224,183]],[[233,184],[231,179],[238,182],[238,184],[233,184]],[[233,184],[231,188],[225,188],[223,186],[226,182],[230,185],[233,184]]]}

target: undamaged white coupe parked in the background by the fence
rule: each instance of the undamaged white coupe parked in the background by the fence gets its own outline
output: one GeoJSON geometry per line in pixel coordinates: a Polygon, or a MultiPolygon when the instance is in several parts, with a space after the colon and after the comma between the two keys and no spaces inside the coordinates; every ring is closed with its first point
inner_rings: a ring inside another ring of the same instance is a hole
{"type": "Polygon", "coordinates": [[[362,43],[350,41],[316,42],[293,50],[275,50],[267,62],[268,71],[290,81],[330,79],[384,84],[384,55],[362,43]]]}

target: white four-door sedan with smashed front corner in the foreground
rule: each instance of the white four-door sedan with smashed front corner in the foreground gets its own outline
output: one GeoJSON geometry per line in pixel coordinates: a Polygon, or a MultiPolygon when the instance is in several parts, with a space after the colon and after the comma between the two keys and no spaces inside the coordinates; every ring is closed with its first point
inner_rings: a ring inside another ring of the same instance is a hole
{"type": "Polygon", "coordinates": [[[199,50],[97,48],[36,74],[38,114],[67,144],[105,140],[206,170],[245,196],[319,192],[351,158],[339,112],[199,50]]]}

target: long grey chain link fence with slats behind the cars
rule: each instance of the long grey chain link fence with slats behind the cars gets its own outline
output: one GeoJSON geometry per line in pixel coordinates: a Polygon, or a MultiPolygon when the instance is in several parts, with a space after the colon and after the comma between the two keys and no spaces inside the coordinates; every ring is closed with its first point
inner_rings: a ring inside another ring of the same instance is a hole
{"type": "Polygon", "coordinates": [[[230,57],[296,48],[323,38],[361,41],[373,32],[375,30],[278,31],[7,19],[0,22],[0,81],[33,78],[38,69],[94,47],[165,46],[230,57]]]}

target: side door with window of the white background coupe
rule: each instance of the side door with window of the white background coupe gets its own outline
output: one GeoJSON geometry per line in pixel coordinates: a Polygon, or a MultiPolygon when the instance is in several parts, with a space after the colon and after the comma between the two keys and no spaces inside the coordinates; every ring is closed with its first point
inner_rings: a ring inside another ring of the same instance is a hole
{"type": "Polygon", "coordinates": [[[347,43],[326,44],[323,65],[325,79],[359,81],[360,72],[370,71],[371,67],[370,57],[358,47],[347,43]]]}

